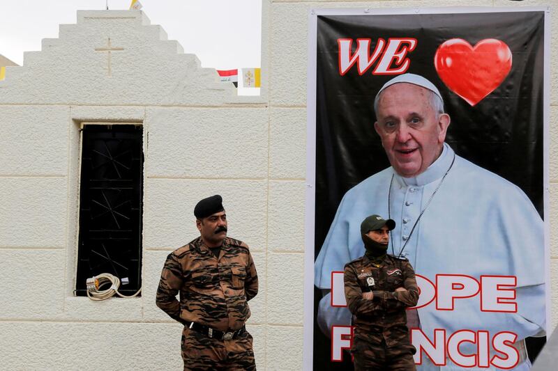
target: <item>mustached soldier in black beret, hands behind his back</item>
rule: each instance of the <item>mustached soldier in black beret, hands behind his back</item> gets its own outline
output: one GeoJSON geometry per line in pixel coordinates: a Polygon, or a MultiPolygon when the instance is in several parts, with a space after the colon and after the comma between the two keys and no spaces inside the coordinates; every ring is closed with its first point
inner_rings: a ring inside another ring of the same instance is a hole
{"type": "Polygon", "coordinates": [[[185,371],[256,370],[245,323],[257,273],[248,246],[227,237],[222,200],[216,195],[196,205],[201,236],[168,255],[157,290],[157,306],[184,324],[185,371]]]}

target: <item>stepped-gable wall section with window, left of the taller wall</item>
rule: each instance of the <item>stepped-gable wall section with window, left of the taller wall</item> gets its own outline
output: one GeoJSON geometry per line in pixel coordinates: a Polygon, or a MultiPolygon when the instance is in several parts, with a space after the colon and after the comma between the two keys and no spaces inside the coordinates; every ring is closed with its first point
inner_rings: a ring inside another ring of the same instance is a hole
{"type": "Polygon", "coordinates": [[[264,98],[237,97],[140,11],[78,12],[76,24],[61,25],[59,38],[43,40],[43,50],[27,53],[7,76],[0,83],[0,370],[180,370],[182,326],[156,307],[156,287],[168,253],[199,235],[195,203],[216,193],[225,198],[230,235],[251,246],[261,277],[248,326],[265,369],[264,98]],[[110,65],[107,52],[95,50],[108,38],[122,49],[110,65]],[[140,298],[73,294],[82,123],[144,127],[140,298]]]}

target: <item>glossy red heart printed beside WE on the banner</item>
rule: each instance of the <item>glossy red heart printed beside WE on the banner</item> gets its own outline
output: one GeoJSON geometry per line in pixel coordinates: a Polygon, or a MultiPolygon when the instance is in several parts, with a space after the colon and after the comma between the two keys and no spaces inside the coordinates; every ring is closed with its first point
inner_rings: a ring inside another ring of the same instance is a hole
{"type": "Polygon", "coordinates": [[[444,84],[474,106],[510,72],[511,50],[496,39],[481,40],[474,47],[463,39],[450,39],[438,47],[434,65],[444,84]]]}

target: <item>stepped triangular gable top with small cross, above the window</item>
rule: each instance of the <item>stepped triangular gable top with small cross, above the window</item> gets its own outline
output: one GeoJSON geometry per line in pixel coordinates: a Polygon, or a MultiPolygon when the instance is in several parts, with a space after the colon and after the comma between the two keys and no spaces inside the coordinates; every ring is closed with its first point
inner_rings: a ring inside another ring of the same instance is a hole
{"type": "MultiPolygon", "coordinates": [[[[211,40],[208,40],[211,42],[211,40]]],[[[22,67],[6,68],[0,103],[92,105],[222,105],[239,102],[179,42],[167,40],[142,10],[80,10],[61,24],[59,38],[25,52],[22,67]]]]}

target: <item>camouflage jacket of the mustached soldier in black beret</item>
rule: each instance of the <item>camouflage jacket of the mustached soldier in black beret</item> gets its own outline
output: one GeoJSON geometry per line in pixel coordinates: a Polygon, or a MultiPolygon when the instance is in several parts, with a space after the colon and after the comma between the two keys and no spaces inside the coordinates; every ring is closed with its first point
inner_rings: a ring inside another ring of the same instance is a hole
{"type": "Polygon", "coordinates": [[[227,237],[216,258],[198,237],[167,256],[156,304],[182,323],[236,330],[250,317],[248,300],[256,296],[257,285],[246,244],[227,237]]]}

